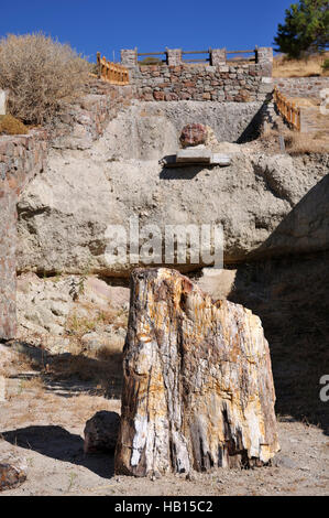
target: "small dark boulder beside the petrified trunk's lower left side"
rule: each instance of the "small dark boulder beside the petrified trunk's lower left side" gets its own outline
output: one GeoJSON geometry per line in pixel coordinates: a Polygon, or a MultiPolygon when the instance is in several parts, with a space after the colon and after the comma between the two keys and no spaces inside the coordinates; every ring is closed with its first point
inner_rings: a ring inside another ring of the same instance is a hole
{"type": "Polygon", "coordinates": [[[86,423],[85,453],[113,452],[117,445],[119,427],[119,413],[106,410],[97,412],[86,423]]]}

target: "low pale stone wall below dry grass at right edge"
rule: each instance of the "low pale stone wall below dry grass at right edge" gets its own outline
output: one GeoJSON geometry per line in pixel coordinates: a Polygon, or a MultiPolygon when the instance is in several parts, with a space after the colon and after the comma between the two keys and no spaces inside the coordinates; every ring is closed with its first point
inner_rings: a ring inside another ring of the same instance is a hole
{"type": "Polygon", "coordinates": [[[275,77],[279,90],[288,97],[320,97],[320,90],[329,88],[329,77],[275,77]]]}

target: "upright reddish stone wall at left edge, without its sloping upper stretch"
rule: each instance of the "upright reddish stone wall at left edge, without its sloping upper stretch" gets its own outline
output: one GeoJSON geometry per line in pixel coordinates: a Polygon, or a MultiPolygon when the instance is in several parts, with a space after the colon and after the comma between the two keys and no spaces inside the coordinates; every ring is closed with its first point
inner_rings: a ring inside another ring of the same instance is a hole
{"type": "Polygon", "coordinates": [[[0,339],[15,335],[17,203],[26,183],[45,165],[47,133],[0,137],[0,339]]]}

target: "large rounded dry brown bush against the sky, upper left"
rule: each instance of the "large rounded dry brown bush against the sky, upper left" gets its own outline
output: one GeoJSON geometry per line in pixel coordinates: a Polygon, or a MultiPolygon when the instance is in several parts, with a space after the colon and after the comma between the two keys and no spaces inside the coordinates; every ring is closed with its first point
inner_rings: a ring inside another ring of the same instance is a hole
{"type": "Polygon", "coordinates": [[[9,90],[10,112],[28,123],[47,122],[80,95],[89,68],[69,45],[42,33],[0,41],[0,88],[9,90]]]}

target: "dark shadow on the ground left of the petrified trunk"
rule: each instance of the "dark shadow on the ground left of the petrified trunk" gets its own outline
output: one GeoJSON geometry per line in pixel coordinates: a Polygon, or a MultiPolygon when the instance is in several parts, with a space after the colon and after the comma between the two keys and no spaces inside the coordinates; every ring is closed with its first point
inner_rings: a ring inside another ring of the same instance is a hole
{"type": "Polygon", "coordinates": [[[111,478],[114,474],[114,456],[111,453],[84,453],[84,440],[62,427],[35,425],[0,432],[10,444],[32,450],[57,461],[84,466],[101,476],[111,478]]]}

